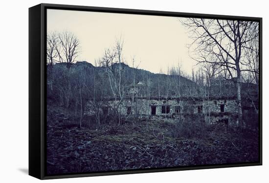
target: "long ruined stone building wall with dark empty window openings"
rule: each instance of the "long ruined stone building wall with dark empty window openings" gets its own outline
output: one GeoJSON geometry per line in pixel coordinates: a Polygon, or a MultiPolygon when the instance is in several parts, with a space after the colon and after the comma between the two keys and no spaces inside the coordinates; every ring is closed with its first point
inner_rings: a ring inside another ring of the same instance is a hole
{"type": "MultiPolygon", "coordinates": [[[[116,106],[119,101],[106,101],[102,105],[101,114],[107,115],[113,113],[113,106],[116,106]]],[[[90,106],[90,103],[88,104],[90,106]]],[[[165,117],[166,120],[192,121],[200,118],[205,120],[203,114],[207,114],[207,122],[218,123],[228,120],[229,124],[237,122],[237,104],[235,100],[156,100],[156,99],[135,99],[132,104],[131,100],[124,100],[119,105],[119,112],[124,116],[130,115],[133,117],[150,117],[151,119],[165,117]],[[165,106],[169,106],[165,113],[165,106]],[[222,107],[221,107],[222,106],[222,107]],[[210,119],[209,117],[210,112],[210,119]],[[201,115],[200,115],[201,114],[201,115]],[[202,118],[201,118],[202,117],[202,118]]],[[[88,110],[87,114],[94,114],[94,111],[88,110]]]]}

